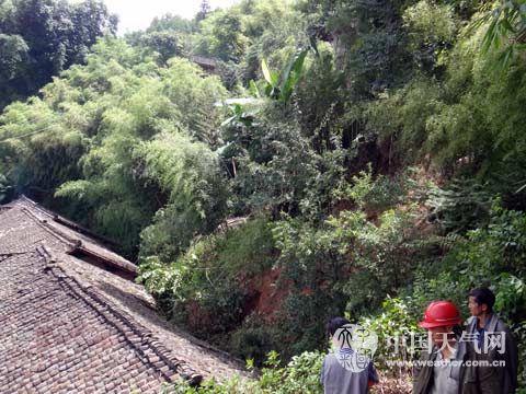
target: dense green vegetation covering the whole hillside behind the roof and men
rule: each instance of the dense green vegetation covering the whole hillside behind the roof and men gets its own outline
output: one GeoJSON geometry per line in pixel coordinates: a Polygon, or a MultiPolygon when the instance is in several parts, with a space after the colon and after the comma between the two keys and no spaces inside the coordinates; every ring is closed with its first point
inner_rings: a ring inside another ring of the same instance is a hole
{"type": "MultiPolygon", "coordinates": [[[[3,111],[0,199],[26,193],[117,240],[195,335],[283,358],[244,389],[167,390],[318,393],[328,318],[385,339],[434,299],[467,317],[483,283],[525,359],[521,4],[243,0],[107,36],[3,111]]],[[[0,45],[13,70],[31,47],[0,45]]],[[[391,357],[378,364],[401,374],[391,357]]]]}

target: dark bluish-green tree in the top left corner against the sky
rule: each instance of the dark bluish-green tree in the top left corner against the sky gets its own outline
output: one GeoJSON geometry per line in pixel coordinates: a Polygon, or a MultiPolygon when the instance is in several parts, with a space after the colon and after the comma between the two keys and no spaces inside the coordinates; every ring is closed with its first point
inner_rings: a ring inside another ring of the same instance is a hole
{"type": "Polygon", "coordinates": [[[0,108],[83,62],[96,38],[114,34],[116,25],[116,16],[95,0],[0,1],[0,108]]]}

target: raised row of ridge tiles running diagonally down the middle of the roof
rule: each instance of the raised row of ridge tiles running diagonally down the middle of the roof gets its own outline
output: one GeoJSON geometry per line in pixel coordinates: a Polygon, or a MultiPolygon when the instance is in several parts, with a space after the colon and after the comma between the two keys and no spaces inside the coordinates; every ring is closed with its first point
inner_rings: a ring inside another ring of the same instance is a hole
{"type": "Polygon", "coordinates": [[[152,366],[168,382],[176,375],[187,380],[192,385],[199,384],[203,376],[195,372],[185,361],[171,355],[160,339],[142,324],[134,320],[127,312],[119,310],[111,300],[102,296],[92,286],[83,286],[75,277],[68,275],[57,265],[45,246],[38,246],[37,253],[46,263],[45,271],[53,275],[62,288],[73,297],[81,299],[87,305],[101,315],[104,321],[115,327],[134,347],[139,358],[152,366]]]}

